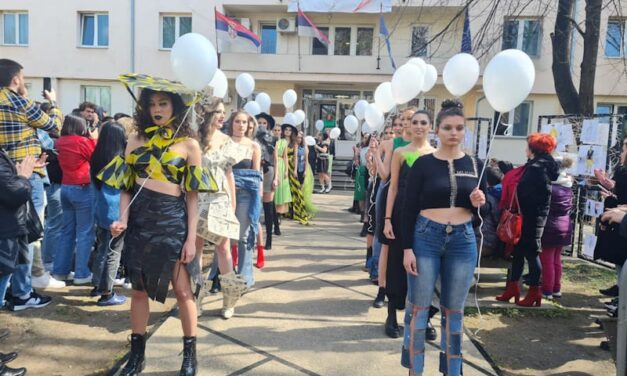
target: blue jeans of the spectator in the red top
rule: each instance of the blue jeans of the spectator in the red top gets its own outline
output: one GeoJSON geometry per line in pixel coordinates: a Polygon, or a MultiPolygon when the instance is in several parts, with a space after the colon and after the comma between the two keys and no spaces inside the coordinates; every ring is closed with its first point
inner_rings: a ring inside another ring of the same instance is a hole
{"type": "Polygon", "coordinates": [[[74,277],[90,276],[87,264],[94,245],[94,198],[91,185],[61,186],[63,235],[54,260],[54,274],[64,276],[72,271],[72,256],[76,249],[74,277]]]}

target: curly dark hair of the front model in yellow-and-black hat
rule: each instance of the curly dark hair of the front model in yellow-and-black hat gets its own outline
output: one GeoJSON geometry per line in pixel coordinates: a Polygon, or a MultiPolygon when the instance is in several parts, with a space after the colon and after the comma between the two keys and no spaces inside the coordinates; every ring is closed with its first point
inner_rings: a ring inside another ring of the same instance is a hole
{"type": "Polygon", "coordinates": [[[194,137],[194,130],[191,128],[190,121],[191,116],[187,116],[185,121],[181,124],[181,120],[185,116],[185,112],[187,111],[187,106],[183,102],[183,98],[180,95],[175,93],[170,93],[168,91],[155,91],[151,89],[143,89],[141,94],[139,95],[139,100],[137,101],[137,106],[135,107],[135,114],[133,118],[135,119],[135,128],[137,129],[137,133],[145,138],[148,138],[146,134],[146,128],[153,126],[152,118],[150,117],[150,98],[157,93],[162,93],[170,98],[172,102],[172,117],[175,118],[174,123],[172,124],[174,130],[177,128],[180,129],[176,134],[177,137],[194,137]]]}

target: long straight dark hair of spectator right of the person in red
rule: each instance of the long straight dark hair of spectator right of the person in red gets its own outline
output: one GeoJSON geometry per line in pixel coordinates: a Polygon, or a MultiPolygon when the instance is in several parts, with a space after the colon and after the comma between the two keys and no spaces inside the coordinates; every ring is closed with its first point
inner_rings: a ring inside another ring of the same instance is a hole
{"type": "Polygon", "coordinates": [[[97,189],[102,188],[102,182],[96,179],[96,175],[116,156],[124,157],[124,149],[126,149],[124,127],[114,121],[104,123],[100,128],[98,143],[89,162],[91,181],[97,189]]]}

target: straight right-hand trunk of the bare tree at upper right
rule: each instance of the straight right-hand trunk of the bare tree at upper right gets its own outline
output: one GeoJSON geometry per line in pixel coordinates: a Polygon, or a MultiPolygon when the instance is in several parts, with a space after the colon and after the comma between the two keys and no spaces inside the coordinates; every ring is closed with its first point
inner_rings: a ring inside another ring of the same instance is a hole
{"type": "Polygon", "coordinates": [[[584,115],[594,113],[594,79],[596,76],[602,0],[586,0],[586,32],[583,37],[579,107],[584,115]]]}

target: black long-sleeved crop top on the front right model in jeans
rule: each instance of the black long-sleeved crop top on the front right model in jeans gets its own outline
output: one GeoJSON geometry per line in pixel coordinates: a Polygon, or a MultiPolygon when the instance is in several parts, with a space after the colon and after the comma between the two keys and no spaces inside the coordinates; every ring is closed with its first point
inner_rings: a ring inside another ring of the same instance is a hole
{"type": "MultiPolygon", "coordinates": [[[[403,205],[401,241],[412,248],[414,227],[423,209],[466,208],[475,210],[470,193],[477,186],[483,163],[471,156],[446,161],[428,154],[418,158],[407,174],[403,205]]],[[[485,176],[479,188],[485,192],[485,176]]]]}

